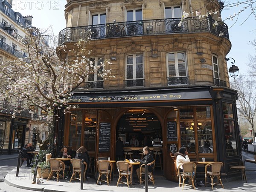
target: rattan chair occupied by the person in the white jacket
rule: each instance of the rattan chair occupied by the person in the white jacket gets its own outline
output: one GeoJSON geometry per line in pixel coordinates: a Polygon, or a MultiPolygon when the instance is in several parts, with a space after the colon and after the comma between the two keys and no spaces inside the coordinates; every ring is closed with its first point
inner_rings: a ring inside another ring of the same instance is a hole
{"type": "Polygon", "coordinates": [[[196,172],[196,164],[193,162],[189,163],[182,163],[178,167],[178,176],[179,176],[179,186],[182,184],[182,190],[184,186],[192,186],[195,189],[195,172],[196,172]],[[183,172],[180,172],[180,169],[183,170],[183,172]],[[182,178],[182,183],[181,183],[182,178]],[[189,178],[189,180],[192,182],[191,184],[185,184],[186,178],[189,178]]]}

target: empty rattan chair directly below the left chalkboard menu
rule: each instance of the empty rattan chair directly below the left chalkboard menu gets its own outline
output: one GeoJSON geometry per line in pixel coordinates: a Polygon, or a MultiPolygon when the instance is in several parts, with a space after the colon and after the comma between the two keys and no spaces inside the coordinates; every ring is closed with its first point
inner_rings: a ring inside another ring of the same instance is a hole
{"type": "Polygon", "coordinates": [[[111,181],[111,173],[113,169],[112,163],[108,160],[98,160],[97,166],[99,170],[99,178],[96,184],[98,184],[98,182],[106,182],[109,185],[111,181]],[[102,175],[105,175],[106,180],[102,179],[102,175]],[[108,176],[110,177],[110,179],[108,179],[108,176]]]}

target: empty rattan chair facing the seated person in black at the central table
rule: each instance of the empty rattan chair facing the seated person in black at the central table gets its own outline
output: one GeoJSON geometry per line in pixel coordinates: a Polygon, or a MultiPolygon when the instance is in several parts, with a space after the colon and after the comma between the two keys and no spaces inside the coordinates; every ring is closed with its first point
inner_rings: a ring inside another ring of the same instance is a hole
{"type": "Polygon", "coordinates": [[[119,160],[116,162],[116,166],[119,172],[119,178],[116,183],[116,186],[118,186],[119,183],[123,183],[126,184],[129,188],[129,184],[132,184],[132,164],[125,160],[119,160]],[[126,182],[122,181],[122,177],[126,178],[126,182]]]}

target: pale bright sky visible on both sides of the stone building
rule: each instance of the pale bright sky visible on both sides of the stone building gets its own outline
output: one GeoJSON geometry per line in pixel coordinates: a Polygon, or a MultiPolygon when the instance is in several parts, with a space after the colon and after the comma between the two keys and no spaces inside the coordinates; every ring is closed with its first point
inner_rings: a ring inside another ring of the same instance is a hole
{"type": "MultiPolygon", "coordinates": [[[[13,0],[12,9],[20,12],[23,16],[32,15],[33,26],[41,29],[48,29],[49,26],[52,26],[54,34],[58,35],[66,27],[64,17],[64,6],[66,4],[66,0],[13,0]]],[[[221,12],[222,20],[229,17],[230,14],[238,13],[241,9],[242,6],[223,9],[221,12]]],[[[245,74],[247,72],[247,63],[249,63],[248,55],[255,54],[255,49],[250,45],[250,41],[256,39],[256,18],[251,15],[247,19],[250,14],[250,9],[241,12],[234,26],[233,24],[236,19],[224,21],[230,27],[229,36],[232,43],[227,58],[232,57],[236,60],[235,65],[239,67],[239,74],[245,74]]],[[[231,61],[233,60],[230,59],[227,61],[228,68],[232,65],[231,61]]]]}

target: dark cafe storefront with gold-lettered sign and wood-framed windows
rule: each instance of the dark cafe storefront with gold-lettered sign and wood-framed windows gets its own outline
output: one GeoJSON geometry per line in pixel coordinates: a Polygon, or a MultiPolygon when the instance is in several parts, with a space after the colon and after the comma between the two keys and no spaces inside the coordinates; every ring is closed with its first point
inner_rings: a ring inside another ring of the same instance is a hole
{"type": "Polygon", "coordinates": [[[236,99],[235,91],[212,86],[74,93],[71,104],[79,108],[60,119],[56,150],[85,146],[96,170],[97,160],[115,160],[118,138],[131,147],[135,136],[143,148],[147,137],[152,148],[162,149],[164,177],[177,179],[169,154],[185,146],[191,161],[223,162],[222,175],[228,178],[229,166],[237,165],[241,154],[236,99]]]}

